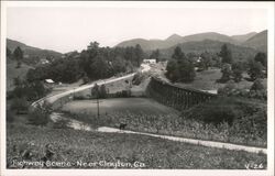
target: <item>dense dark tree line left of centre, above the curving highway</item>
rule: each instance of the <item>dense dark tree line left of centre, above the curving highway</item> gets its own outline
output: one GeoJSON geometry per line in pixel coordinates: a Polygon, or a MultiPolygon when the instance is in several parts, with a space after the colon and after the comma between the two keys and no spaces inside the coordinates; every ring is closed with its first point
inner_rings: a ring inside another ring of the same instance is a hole
{"type": "Polygon", "coordinates": [[[36,67],[28,73],[28,80],[43,80],[74,82],[82,78],[85,82],[108,78],[120,73],[132,73],[138,68],[144,52],[140,45],[131,47],[100,47],[91,42],[87,50],[80,53],[67,54],[64,58],[55,59],[51,64],[36,67]]]}

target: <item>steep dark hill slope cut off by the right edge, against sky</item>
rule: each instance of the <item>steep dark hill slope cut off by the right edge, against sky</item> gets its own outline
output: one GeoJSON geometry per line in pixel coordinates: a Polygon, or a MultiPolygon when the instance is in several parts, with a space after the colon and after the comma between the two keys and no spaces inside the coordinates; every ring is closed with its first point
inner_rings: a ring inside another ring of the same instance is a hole
{"type": "Polygon", "coordinates": [[[242,43],[243,46],[252,47],[261,52],[267,52],[267,30],[262,31],[242,43]]]}

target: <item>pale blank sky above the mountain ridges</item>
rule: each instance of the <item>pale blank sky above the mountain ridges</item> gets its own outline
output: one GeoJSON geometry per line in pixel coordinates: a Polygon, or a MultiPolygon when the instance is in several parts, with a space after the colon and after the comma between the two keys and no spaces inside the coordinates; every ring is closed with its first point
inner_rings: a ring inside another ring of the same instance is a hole
{"type": "Polygon", "coordinates": [[[12,7],[7,37],[61,53],[81,51],[91,41],[114,46],[131,38],[165,40],[218,32],[227,35],[267,29],[265,9],[12,7]]]}

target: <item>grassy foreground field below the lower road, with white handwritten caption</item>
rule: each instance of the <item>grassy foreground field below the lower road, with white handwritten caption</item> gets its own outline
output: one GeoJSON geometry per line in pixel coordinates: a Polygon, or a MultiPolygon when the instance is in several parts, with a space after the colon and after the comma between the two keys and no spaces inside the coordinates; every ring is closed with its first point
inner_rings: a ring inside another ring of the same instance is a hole
{"type": "Polygon", "coordinates": [[[267,164],[266,155],[262,153],[211,148],[135,134],[105,134],[28,124],[10,124],[7,133],[8,168],[22,168],[19,164],[22,161],[42,161],[50,146],[50,163],[24,168],[245,169],[253,164],[266,168],[267,164]],[[58,166],[53,165],[62,162],[58,166]],[[84,166],[79,162],[94,164],[84,166]]]}

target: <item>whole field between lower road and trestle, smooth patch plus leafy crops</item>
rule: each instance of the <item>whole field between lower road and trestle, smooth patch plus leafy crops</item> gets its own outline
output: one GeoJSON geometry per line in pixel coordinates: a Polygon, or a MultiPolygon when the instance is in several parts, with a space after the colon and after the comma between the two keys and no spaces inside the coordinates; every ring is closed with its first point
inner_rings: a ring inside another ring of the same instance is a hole
{"type": "MultiPolygon", "coordinates": [[[[82,121],[92,128],[118,128],[120,123],[127,123],[128,130],[139,132],[266,147],[265,108],[261,105],[243,103],[248,109],[241,108],[242,110],[249,112],[260,111],[257,116],[263,116],[260,122],[248,127],[246,124],[254,122],[254,120],[253,117],[244,117],[242,120],[238,120],[237,118],[232,125],[226,122],[219,124],[206,123],[197,119],[200,116],[210,116],[210,118],[215,116],[215,113],[205,113],[209,103],[188,110],[185,114],[191,114],[194,118],[190,119],[183,117],[183,113],[180,114],[169,107],[165,107],[154,100],[145,98],[105,99],[100,102],[99,118],[97,117],[96,100],[72,101],[65,105],[62,110],[67,118],[82,121]],[[200,110],[204,110],[202,114],[199,113],[200,110]]],[[[212,107],[215,108],[215,106],[213,103],[212,107]]],[[[243,113],[239,112],[237,109],[234,111],[234,113],[243,113]]],[[[250,117],[250,114],[248,116],[250,117]]],[[[258,118],[254,117],[254,119],[258,118]]]]}

